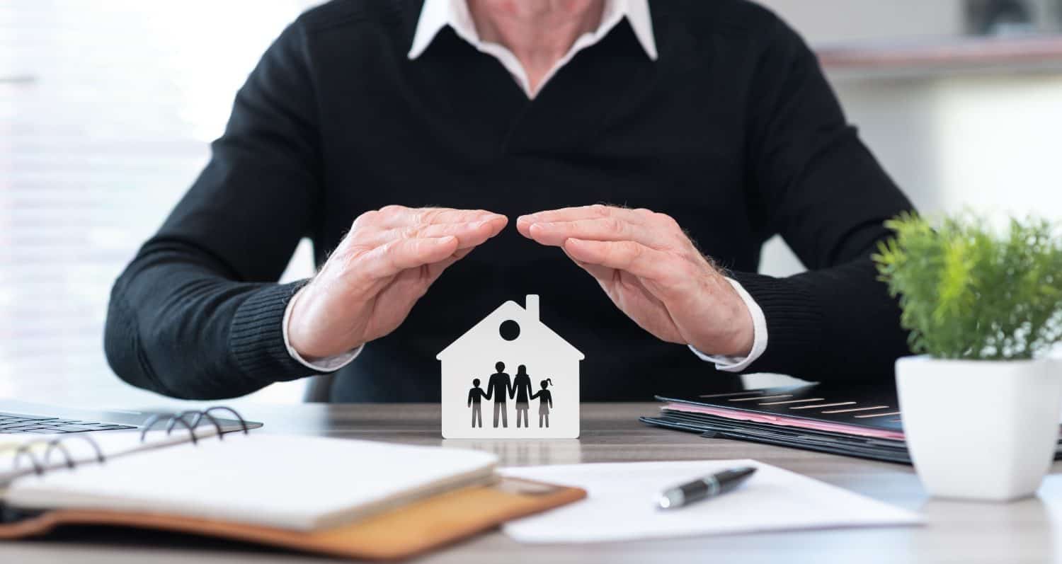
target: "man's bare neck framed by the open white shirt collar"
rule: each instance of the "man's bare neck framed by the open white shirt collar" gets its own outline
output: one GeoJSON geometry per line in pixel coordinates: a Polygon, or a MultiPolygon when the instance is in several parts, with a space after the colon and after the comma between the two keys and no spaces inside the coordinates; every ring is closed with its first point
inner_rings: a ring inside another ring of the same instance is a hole
{"type": "Polygon", "coordinates": [[[600,25],[604,0],[468,0],[468,11],[480,38],[512,51],[537,91],[576,39],[600,25]]]}

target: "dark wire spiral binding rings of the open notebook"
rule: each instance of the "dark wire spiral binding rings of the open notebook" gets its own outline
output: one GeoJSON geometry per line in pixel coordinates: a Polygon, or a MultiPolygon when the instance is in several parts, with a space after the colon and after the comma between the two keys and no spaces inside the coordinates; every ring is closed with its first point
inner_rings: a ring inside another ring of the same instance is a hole
{"type": "MultiPolygon", "coordinates": [[[[157,413],[148,418],[143,424],[143,428],[140,430],[140,442],[144,442],[148,435],[148,431],[153,427],[161,424],[166,425],[166,434],[169,435],[173,432],[173,428],[177,425],[184,426],[188,429],[188,434],[191,438],[192,444],[199,442],[199,437],[195,435],[195,428],[199,426],[203,420],[208,421],[213,428],[218,431],[218,440],[221,441],[224,438],[224,433],[221,430],[221,424],[218,418],[213,416],[212,413],[223,411],[232,414],[237,421],[240,422],[241,430],[246,434],[251,428],[247,427],[247,422],[237,412],[235,409],[225,406],[216,406],[205,410],[187,410],[177,413],[157,413]]],[[[12,467],[18,469],[19,464],[23,459],[28,460],[31,465],[33,465],[33,473],[36,475],[42,475],[48,471],[51,464],[52,452],[59,452],[63,456],[64,465],[68,468],[74,468],[78,466],[78,461],[74,460],[70,450],[64,444],[69,441],[85,441],[88,443],[92,450],[96,452],[96,461],[100,464],[106,462],[107,457],[103,455],[103,449],[100,448],[99,443],[92,440],[91,437],[85,434],[70,434],[69,437],[59,437],[56,439],[41,439],[39,441],[30,441],[22,443],[15,449],[15,457],[12,461],[12,467]],[[39,448],[41,445],[45,446],[45,450],[38,457],[35,449],[39,448]]],[[[3,520],[0,519],[0,523],[3,520]]]]}

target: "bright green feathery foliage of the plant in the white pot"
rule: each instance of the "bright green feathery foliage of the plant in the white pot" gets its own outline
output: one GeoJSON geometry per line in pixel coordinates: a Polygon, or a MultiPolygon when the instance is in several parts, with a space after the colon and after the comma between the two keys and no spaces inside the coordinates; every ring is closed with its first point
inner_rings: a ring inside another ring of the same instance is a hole
{"type": "Polygon", "coordinates": [[[997,236],[972,213],[930,224],[885,222],[894,236],[871,256],[915,353],[954,359],[1027,359],[1062,340],[1059,226],[1012,219],[997,236]]]}

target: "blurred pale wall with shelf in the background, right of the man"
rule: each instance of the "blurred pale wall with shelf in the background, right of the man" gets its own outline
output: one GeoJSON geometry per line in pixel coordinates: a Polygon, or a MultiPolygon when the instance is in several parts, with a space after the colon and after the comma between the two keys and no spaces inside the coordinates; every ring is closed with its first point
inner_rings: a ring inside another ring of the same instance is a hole
{"type": "MultiPolygon", "coordinates": [[[[1062,216],[1062,2],[760,3],[818,49],[849,119],[921,211],[1062,216]]],[[[761,270],[803,267],[774,239],[761,270]]]]}

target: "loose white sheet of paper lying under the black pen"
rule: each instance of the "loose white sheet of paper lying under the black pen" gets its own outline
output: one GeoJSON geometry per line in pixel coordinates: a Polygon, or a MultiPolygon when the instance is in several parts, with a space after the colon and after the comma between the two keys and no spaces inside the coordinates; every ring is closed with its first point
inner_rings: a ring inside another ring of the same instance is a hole
{"type": "Polygon", "coordinates": [[[523,543],[595,543],[701,534],[919,525],[917,513],[754,460],[630,462],[504,468],[501,474],[587,491],[587,498],[502,529],[523,543]],[[755,466],[739,489],[663,511],[664,490],[734,466],[755,466]]]}

